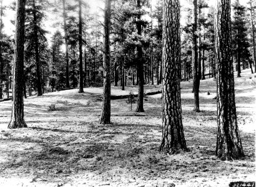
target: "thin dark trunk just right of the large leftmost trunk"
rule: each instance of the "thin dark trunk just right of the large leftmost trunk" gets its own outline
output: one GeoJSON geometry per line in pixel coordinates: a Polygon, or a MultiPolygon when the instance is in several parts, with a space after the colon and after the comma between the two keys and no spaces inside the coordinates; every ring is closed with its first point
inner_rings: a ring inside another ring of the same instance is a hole
{"type": "Polygon", "coordinates": [[[35,55],[36,55],[36,83],[37,83],[37,95],[42,95],[42,82],[41,82],[41,62],[39,59],[39,41],[37,31],[37,17],[36,17],[36,2],[33,3],[33,24],[34,24],[34,37],[35,37],[35,55]]]}

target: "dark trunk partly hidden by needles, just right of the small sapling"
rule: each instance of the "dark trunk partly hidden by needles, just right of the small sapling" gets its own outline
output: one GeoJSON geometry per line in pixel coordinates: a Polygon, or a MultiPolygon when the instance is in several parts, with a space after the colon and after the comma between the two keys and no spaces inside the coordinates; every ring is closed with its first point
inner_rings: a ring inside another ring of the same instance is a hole
{"type": "MultiPolygon", "coordinates": [[[[137,0],[137,8],[140,10],[140,0],[137,0]]],[[[137,21],[137,34],[141,35],[141,22],[140,14],[137,21]]],[[[143,98],[144,98],[144,70],[142,61],[142,46],[137,46],[137,73],[138,73],[138,102],[136,112],[144,112],[143,108],[143,98]]]]}

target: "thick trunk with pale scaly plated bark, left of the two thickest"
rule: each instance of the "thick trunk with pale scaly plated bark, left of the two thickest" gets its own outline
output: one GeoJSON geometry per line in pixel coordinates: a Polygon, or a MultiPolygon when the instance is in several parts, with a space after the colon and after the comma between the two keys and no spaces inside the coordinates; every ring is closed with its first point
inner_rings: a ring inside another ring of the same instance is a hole
{"type": "Polygon", "coordinates": [[[180,4],[164,0],[162,35],[162,143],[160,151],[186,151],[180,102],[180,4]]]}

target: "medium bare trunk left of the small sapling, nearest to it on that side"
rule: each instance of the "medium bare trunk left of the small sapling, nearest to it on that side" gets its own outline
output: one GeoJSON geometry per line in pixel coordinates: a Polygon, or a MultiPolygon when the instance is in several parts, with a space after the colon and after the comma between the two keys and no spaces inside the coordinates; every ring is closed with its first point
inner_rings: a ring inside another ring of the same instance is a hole
{"type": "Polygon", "coordinates": [[[102,124],[111,123],[111,51],[109,35],[111,29],[111,0],[105,1],[104,11],[104,76],[103,76],[103,102],[101,121],[102,124]]]}

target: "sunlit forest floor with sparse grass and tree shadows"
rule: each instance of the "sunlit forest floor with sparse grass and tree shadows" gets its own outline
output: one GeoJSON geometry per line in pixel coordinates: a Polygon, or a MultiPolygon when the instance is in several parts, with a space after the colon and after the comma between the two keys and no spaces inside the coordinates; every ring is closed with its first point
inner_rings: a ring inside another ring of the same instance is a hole
{"type": "MultiPolygon", "coordinates": [[[[134,112],[136,104],[131,112],[126,99],[111,100],[112,124],[100,125],[101,95],[88,93],[93,88],[85,88],[87,93],[64,90],[26,98],[28,127],[22,129],[7,129],[12,103],[0,102],[0,186],[229,186],[231,181],[255,181],[256,78],[249,70],[241,75],[235,78],[245,153],[241,160],[215,157],[213,79],[200,82],[200,113],[193,111],[192,81],[181,83],[182,118],[190,151],[178,155],[158,151],[161,94],[145,98],[144,113],[134,112]],[[49,111],[51,105],[56,110],[49,111]]],[[[112,93],[122,94],[117,89],[112,93]]],[[[135,92],[136,88],[126,90],[135,92]]]]}

